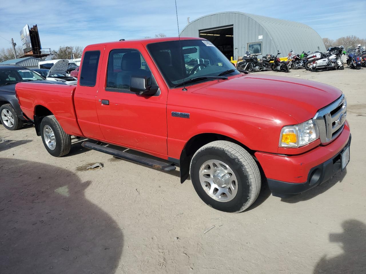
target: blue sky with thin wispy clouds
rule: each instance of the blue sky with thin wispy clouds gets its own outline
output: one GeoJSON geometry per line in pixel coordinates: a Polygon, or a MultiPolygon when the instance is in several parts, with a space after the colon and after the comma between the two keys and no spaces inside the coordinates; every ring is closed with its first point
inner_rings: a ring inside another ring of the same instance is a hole
{"type": "MultiPolygon", "coordinates": [[[[366,38],[366,0],[247,1],[177,0],[180,30],[187,17],[220,11],[241,11],[291,21],[314,28],[321,37],[366,38]]],[[[177,36],[174,0],[10,0],[0,3],[0,35],[21,45],[20,30],[37,24],[43,48],[86,46],[91,43],[177,36]],[[34,7],[37,3],[37,7],[34,7]]],[[[0,48],[9,47],[0,37],[0,48]]]]}

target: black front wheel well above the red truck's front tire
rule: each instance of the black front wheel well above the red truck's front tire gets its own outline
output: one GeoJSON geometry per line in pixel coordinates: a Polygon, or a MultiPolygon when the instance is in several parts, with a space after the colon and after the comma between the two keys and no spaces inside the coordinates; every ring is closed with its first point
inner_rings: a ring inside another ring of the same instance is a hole
{"type": "Polygon", "coordinates": [[[230,138],[225,135],[216,134],[216,133],[202,133],[192,137],[187,144],[184,146],[184,149],[180,155],[180,182],[183,183],[189,176],[189,168],[191,159],[194,153],[201,148],[202,146],[213,142],[213,141],[229,141],[233,142],[234,144],[238,144],[242,146],[246,151],[248,151],[252,156],[254,155],[254,151],[249,149],[247,146],[243,145],[242,143],[236,141],[233,138],[230,138]]]}

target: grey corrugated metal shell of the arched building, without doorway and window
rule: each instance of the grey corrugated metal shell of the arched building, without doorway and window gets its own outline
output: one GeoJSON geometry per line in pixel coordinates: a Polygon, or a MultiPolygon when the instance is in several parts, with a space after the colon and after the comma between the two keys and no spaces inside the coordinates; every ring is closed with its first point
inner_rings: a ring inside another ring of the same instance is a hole
{"type": "Polygon", "coordinates": [[[247,44],[262,42],[263,54],[287,56],[292,49],[295,53],[305,51],[324,52],[325,46],[319,34],[305,24],[275,19],[243,12],[219,12],[202,16],[189,23],[180,33],[181,36],[199,37],[199,30],[234,25],[234,59],[243,56],[247,44]],[[258,39],[263,35],[263,39],[258,39]],[[236,49],[237,48],[237,49],[236,49]]]}

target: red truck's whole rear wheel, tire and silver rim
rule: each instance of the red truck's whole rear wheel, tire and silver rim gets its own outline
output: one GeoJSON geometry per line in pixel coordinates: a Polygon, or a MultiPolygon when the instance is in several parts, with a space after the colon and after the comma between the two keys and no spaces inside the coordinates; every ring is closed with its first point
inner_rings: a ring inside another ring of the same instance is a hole
{"type": "Polygon", "coordinates": [[[55,157],[67,155],[71,149],[71,136],[64,132],[54,115],[41,121],[42,141],[48,153],[55,157]]]}

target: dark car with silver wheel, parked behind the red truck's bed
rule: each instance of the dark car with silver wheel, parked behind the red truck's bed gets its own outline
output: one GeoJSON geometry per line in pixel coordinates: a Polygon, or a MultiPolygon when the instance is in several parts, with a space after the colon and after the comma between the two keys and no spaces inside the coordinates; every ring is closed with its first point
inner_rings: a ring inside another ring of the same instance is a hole
{"type": "MultiPolygon", "coordinates": [[[[15,97],[15,84],[32,81],[32,83],[55,82],[46,81],[37,73],[17,65],[0,65],[0,121],[8,130],[17,130],[29,121],[24,116],[15,97]]],[[[55,83],[56,84],[56,83],[55,83]]]]}

